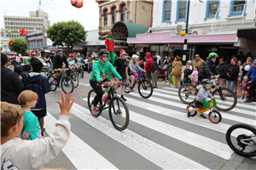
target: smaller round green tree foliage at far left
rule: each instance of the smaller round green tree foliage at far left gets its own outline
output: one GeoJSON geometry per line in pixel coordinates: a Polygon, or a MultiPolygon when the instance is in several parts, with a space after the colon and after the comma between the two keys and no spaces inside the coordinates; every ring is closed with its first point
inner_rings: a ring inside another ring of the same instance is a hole
{"type": "Polygon", "coordinates": [[[15,51],[18,54],[26,53],[27,42],[24,39],[22,39],[20,37],[16,37],[16,38],[12,39],[12,41],[14,42],[14,44],[9,45],[9,49],[11,51],[15,51]]]}

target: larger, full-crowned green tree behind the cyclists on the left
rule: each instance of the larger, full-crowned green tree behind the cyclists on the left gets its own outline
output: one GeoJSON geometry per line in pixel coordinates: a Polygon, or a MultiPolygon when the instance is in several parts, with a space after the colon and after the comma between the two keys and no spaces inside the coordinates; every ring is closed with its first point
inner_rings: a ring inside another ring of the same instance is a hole
{"type": "Polygon", "coordinates": [[[53,46],[67,46],[67,53],[73,51],[73,46],[76,43],[85,41],[86,31],[78,21],[69,20],[55,23],[49,26],[47,37],[53,42],[53,46]]]}

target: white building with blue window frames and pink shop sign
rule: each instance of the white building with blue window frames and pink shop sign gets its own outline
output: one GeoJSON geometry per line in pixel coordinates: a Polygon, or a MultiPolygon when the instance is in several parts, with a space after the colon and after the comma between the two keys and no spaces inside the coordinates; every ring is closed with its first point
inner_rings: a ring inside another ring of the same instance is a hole
{"type": "MultiPolygon", "coordinates": [[[[187,60],[195,54],[205,59],[210,52],[232,57],[239,51],[256,55],[253,38],[238,37],[237,30],[255,28],[255,0],[190,0],[187,60]]],[[[153,26],[147,34],[128,38],[128,43],[150,44],[150,51],[183,55],[188,0],[154,0],[153,26]]],[[[255,30],[254,30],[255,31],[255,30]]],[[[253,35],[252,35],[253,36],[253,35]]],[[[254,35],[256,37],[256,33],[254,35]]],[[[163,57],[162,57],[163,58],[163,57]]]]}

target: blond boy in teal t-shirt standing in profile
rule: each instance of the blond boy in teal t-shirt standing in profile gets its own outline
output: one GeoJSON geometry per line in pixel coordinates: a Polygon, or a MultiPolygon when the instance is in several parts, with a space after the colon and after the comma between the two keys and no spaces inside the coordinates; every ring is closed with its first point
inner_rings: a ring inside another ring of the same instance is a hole
{"type": "Polygon", "coordinates": [[[38,94],[31,90],[21,92],[18,97],[20,105],[23,107],[23,127],[19,137],[21,139],[33,140],[41,139],[41,127],[38,122],[38,117],[35,116],[31,108],[37,105],[38,94]]]}

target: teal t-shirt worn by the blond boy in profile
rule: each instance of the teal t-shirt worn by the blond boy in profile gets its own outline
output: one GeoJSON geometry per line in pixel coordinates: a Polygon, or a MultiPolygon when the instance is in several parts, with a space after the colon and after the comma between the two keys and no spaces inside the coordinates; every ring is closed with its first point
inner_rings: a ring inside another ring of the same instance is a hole
{"type": "Polygon", "coordinates": [[[27,140],[40,139],[40,125],[38,122],[38,117],[35,116],[32,112],[24,111],[23,116],[23,127],[21,130],[21,137],[23,137],[23,133],[30,133],[27,140]]]}

